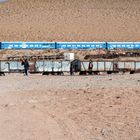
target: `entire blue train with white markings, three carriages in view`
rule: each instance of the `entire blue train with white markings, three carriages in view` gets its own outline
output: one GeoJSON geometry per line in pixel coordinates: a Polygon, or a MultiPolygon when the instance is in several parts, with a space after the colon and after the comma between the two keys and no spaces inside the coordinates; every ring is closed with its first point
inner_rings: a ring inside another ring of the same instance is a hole
{"type": "Polygon", "coordinates": [[[0,49],[140,50],[140,42],[0,42],[0,49]]]}

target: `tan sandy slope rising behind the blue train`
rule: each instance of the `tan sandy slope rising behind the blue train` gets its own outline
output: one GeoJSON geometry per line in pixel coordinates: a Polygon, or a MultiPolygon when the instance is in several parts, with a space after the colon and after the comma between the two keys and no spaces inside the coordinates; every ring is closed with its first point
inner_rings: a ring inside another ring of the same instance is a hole
{"type": "Polygon", "coordinates": [[[8,0],[0,41],[139,41],[139,0],[8,0]]]}

